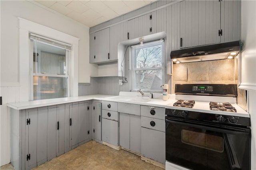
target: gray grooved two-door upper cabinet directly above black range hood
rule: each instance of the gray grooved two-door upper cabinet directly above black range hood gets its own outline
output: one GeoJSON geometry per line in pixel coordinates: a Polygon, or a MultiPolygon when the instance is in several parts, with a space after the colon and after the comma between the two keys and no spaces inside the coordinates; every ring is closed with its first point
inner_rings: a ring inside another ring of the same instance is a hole
{"type": "Polygon", "coordinates": [[[180,2],[180,48],[239,40],[241,1],[180,2]]]}

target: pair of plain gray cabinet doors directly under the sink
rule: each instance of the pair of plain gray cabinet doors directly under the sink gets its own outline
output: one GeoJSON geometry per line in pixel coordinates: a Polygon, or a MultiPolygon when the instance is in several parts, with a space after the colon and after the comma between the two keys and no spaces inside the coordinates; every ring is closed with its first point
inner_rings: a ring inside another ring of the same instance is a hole
{"type": "Polygon", "coordinates": [[[140,116],[127,113],[120,114],[120,146],[138,153],[141,152],[140,116]]]}

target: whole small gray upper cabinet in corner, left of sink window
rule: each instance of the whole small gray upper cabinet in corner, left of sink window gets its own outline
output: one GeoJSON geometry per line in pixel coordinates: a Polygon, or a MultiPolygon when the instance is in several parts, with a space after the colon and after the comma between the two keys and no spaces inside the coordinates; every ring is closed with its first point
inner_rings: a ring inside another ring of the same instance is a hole
{"type": "Polygon", "coordinates": [[[110,28],[90,34],[90,63],[110,61],[110,28]]]}

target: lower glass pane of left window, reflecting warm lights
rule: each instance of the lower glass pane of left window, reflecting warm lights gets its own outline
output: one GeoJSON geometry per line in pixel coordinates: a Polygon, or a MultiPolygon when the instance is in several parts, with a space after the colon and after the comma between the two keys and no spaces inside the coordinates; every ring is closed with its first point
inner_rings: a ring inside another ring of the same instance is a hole
{"type": "Polygon", "coordinates": [[[67,97],[67,78],[33,76],[34,100],[67,97]]]}

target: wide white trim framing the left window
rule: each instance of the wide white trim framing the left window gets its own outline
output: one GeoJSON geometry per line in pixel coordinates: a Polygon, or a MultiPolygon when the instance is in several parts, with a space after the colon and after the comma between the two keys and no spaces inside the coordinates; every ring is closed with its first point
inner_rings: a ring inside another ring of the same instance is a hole
{"type": "Polygon", "coordinates": [[[55,29],[34,23],[32,21],[19,18],[19,33],[20,33],[20,102],[29,101],[30,98],[30,39],[29,33],[34,32],[58,41],[63,41],[72,45],[72,51],[70,52],[70,96],[78,96],[78,41],[79,39],[62,33],[55,29]]]}

